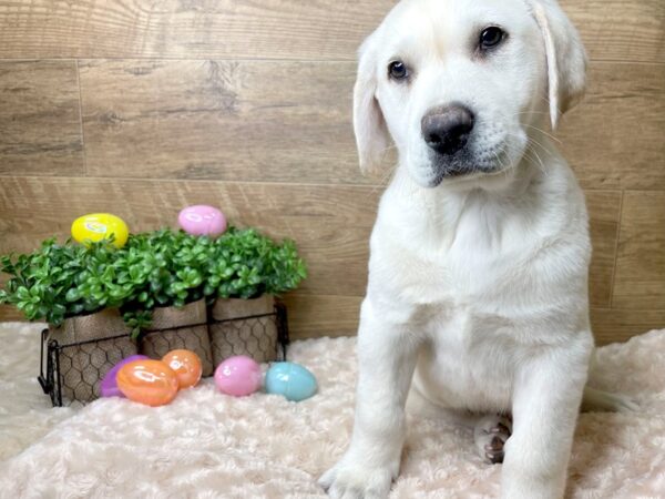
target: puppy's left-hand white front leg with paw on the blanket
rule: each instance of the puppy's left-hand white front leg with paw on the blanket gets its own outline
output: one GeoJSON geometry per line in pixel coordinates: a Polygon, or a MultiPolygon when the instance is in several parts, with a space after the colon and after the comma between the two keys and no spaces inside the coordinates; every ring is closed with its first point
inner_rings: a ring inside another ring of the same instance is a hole
{"type": "Polygon", "coordinates": [[[362,303],[354,435],[319,483],[334,498],[383,498],[399,471],[417,342],[405,322],[362,303]]]}

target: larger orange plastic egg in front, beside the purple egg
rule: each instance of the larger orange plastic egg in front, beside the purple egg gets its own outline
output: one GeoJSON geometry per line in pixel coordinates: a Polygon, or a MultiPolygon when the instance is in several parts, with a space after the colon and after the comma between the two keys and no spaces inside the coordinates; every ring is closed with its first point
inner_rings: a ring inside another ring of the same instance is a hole
{"type": "Polygon", "coordinates": [[[117,387],[130,400],[149,406],[168,404],[177,394],[177,375],[162,360],[125,364],[116,376],[117,387]]]}

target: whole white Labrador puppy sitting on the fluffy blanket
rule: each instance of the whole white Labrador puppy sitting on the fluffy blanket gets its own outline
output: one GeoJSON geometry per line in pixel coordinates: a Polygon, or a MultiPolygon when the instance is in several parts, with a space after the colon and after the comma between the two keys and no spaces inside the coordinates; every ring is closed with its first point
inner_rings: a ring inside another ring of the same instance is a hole
{"type": "Polygon", "coordinates": [[[382,498],[407,399],[475,427],[502,497],[563,496],[587,388],[584,196],[543,131],[581,98],[586,59],[554,0],[402,0],[360,49],[360,165],[399,165],[371,235],[354,435],[320,483],[382,498]],[[512,416],[512,418],[511,418],[512,416]],[[509,438],[510,437],[510,438],[509,438]]]}

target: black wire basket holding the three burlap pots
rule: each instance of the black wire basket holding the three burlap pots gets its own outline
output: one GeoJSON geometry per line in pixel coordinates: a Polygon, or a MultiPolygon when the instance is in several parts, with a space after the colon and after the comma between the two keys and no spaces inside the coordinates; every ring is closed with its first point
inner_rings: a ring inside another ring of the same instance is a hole
{"type": "MultiPolygon", "coordinates": [[[[228,335],[225,342],[217,335],[217,355],[219,350],[226,357],[233,355],[247,355],[257,361],[267,359],[286,360],[286,349],[289,343],[288,319],[286,307],[276,303],[274,310],[267,314],[233,317],[224,320],[215,320],[207,314],[207,322],[194,326],[215,326],[228,335]],[[276,340],[268,337],[268,332],[277,332],[276,340]],[[232,338],[233,336],[233,338],[232,338]]],[[[168,327],[174,334],[164,335],[160,338],[162,349],[165,352],[183,348],[182,335],[193,326],[168,327]]],[[[158,335],[162,329],[154,329],[146,335],[158,335]]],[[[136,354],[136,350],[127,347],[127,334],[108,336],[99,339],[60,344],[57,339],[49,337],[49,329],[41,334],[40,373],[38,376],[44,394],[51,397],[53,407],[70,406],[72,404],[85,404],[99,397],[99,387],[102,378],[109,370],[109,366],[117,364],[123,358],[136,354]]],[[[141,343],[139,354],[143,354],[141,343]]],[[[204,360],[205,361],[205,360],[204,360]]],[[[215,364],[218,364],[216,361],[215,364]]]]}

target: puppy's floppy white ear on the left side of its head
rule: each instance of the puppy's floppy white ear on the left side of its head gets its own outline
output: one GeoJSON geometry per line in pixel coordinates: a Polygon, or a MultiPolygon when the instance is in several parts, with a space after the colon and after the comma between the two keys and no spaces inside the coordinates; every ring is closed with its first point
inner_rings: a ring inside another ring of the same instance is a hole
{"type": "Polygon", "coordinates": [[[354,86],[354,132],[358,147],[360,170],[376,170],[390,143],[383,114],[376,98],[377,74],[375,51],[370,35],[360,47],[358,75],[354,86]]]}

